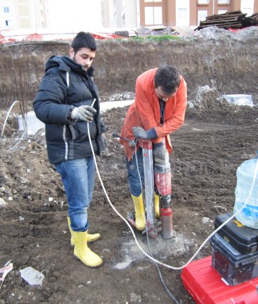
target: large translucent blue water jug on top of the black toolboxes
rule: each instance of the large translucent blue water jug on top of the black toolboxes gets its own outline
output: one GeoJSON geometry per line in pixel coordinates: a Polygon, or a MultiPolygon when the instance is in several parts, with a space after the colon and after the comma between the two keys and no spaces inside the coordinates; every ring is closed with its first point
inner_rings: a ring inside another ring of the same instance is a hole
{"type": "Polygon", "coordinates": [[[236,169],[236,200],[234,206],[234,213],[236,213],[246,203],[243,210],[236,214],[236,219],[243,225],[256,229],[258,229],[257,161],[258,153],[256,158],[245,160],[245,162],[242,162],[242,164],[236,169]],[[252,192],[250,193],[255,174],[255,184],[252,192]]]}

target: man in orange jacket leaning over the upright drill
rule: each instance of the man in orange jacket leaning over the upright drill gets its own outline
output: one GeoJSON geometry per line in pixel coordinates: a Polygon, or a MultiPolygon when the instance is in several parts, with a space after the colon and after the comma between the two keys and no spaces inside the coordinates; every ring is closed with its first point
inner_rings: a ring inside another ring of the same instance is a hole
{"type": "MultiPolygon", "coordinates": [[[[128,109],[121,137],[131,141],[135,140],[135,137],[151,139],[154,162],[163,162],[166,149],[172,153],[169,135],[182,126],[186,105],[185,79],[176,67],[164,65],[147,70],[137,77],[135,102],[128,109]]],[[[135,155],[135,149],[129,142],[122,138],[120,142],[126,153],[129,189],[135,206],[135,225],[139,231],[142,231],[145,229],[145,213],[142,186],[137,170],[139,167],[143,183],[142,148],[137,147],[135,155]]],[[[158,195],[155,195],[155,215],[160,216],[158,195]]]]}

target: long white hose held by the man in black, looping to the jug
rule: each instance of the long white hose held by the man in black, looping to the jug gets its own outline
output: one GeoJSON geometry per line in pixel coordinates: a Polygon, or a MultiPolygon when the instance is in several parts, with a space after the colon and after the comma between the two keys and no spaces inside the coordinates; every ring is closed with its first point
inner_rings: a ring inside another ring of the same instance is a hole
{"type": "MultiPolygon", "coordinates": [[[[96,100],[93,100],[93,104],[94,104],[95,101],[96,101],[96,100]]],[[[93,104],[92,104],[91,106],[93,106],[93,104]]],[[[88,134],[90,135],[89,123],[87,123],[87,130],[88,130],[88,134]]],[[[92,146],[92,142],[91,142],[91,137],[90,137],[90,136],[89,136],[89,142],[90,142],[90,144],[91,144],[91,151],[92,151],[92,153],[93,153],[93,159],[94,159],[94,162],[95,162],[95,165],[96,165],[96,172],[97,172],[97,174],[98,174],[98,178],[99,178],[99,180],[100,180],[100,184],[102,185],[103,191],[104,191],[104,193],[105,193],[105,195],[106,195],[106,197],[107,197],[107,201],[109,202],[110,206],[111,206],[112,209],[115,211],[115,213],[116,213],[117,215],[119,215],[119,217],[120,217],[124,222],[126,222],[126,225],[128,225],[130,231],[132,232],[132,236],[135,238],[135,243],[136,243],[137,246],[139,247],[139,250],[141,250],[142,253],[143,253],[146,257],[148,257],[149,259],[151,259],[151,261],[154,261],[155,263],[158,263],[158,264],[160,264],[160,265],[162,265],[162,266],[165,266],[165,267],[167,267],[167,268],[169,268],[169,269],[181,270],[181,269],[185,268],[185,266],[187,266],[187,265],[192,261],[192,259],[194,259],[194,258],[196,257],[196,255],[197,255],[197,254],[199,253],[199,251],[204,247],[205,243],[209,240],[209,238],[211,238],[211,236],[213,236],[218,230],[220,230],[220,228],[222,228],[223,226],[225,226],[225,225],[227,224],[227,222],[229,222],[229,220],[232,220],[232,218],[234,218],[234,216],[235,216],[237,213],[239,213],[240,211],[242,211],[242,209],[245,207],[245,205],[246,205],[247,202],[249,201],[250,196],[251,196],[251,194],[252,194],[252,190],[253,190],[254,185],[255,185],[255,179],[256,179],[257,171],[258,171],[258,158],[257,158],[257,165],[256,165],[256,167],[255,167],[255,175],[254,175],[254,178],[253,178],[253,181],[252,181],[252,186],[251,186],[251,188],[250,188],[250,192],[249,192],[249,195],[248,195],[248,199],[246,200],[245,204],[244,204],[236,213],[234,213],[234,215],[232,215],[232,217],[230,217],[229,219],[227,219],[225,222],[223,222],[222,225],[220,225],[220,227],[218,227],[217,229],[215,229],[215,230],[213,231],[213,233],[212,233],[210,236],[208,236],[208,238],[206,238],[206,240],[204,241],[204,243],[202,243],[202,245],[199,247],[199,249],[197,250],[197,252],[195,252],[195,254],[189,259],[189,261],[188,261],[187,263],[185,263],[185,264],[184,264],[183,266],[181,266],[181,267],[170,266],[170,265],[167,265],[167,264],[165,264],[165,263],[162,263],[161,261],[158,261],[157,259],[154,259],[153,257],[151,257],[149,254],[147,254],[147,253],[142,249],[142,247],[139,245],[139,242],[137,241],[137,238],[136,238],[136,236],[135,236],[135,232],[132,230],[132,227],[130,226],[130,224],[128,223],[128,221],[127,221],[125,218],[123,218],[123,215],[121,215],[121,214],[116,210],[116,208],[114,208],[112,202],[111,202],[110,199],[109,199],[109,196],[107,195],[107,191],[106,191],[105,186],[104,186],[104,184],[103,184],[103,181],[102,181],[102,179],[101,179],[100,172],[98,171],[98,164],[97,164],[97,161],[96,161],[96,156],[95,156],[95,153],[94,153],[94,150],[93,150],[93,146],[92,146]]]]}

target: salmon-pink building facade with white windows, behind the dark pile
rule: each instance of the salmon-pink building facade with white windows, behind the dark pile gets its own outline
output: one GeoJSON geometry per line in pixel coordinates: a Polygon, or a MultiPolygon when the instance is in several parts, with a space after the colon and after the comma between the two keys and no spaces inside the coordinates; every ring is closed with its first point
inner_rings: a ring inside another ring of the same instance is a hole
{"type": "Polygon", "coordinates": [[[257,0],[139,0],[140,26],[197,26],[207,16],[234,10],[252,15],[257,0]]]}

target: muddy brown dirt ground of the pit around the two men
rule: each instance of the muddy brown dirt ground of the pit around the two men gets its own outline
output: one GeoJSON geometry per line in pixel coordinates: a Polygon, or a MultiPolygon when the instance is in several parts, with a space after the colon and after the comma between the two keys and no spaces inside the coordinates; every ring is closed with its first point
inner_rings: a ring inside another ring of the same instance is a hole
{"type": "MultiPolygon", "coordinates": [[[[184,125],[171,135],[174,237],[149,240],[153,257],[175,267],[183,266],[211,234],[216,215],[233,211],[236,169],[258,149],[257,102],[254,107],[235,107],[216,90],[202,96],[197,92],[189,100],[194,102],[184,125]]],[[[127,109],[103,113],[109,145],[97,158],[109,199],[125,218],[133,205],[123,149],[112,132],[121,130],[127,109]]],[[[1,111],[1,129],[6,112],[1,111]]],[[[97,175],[89,232],[99,232],[101,238],[89,247],[105,263],[89,268],[75,259],[66,195],[47,160],[44,131],[8,151],[21,135],[16,124],[14,109],[1,141],[0,167],[0,268],[9,260],[14,268],[1,286],[0,304],[172,303],[155,265],[140,252],[130,229],[109,205],[97,175]],[[41,286],[30,286],[21,278],[20,270],[27,266],[43,273],[41,286]]],[[[135,233],[149,253],[146,235],[135,233]]],[[[211,245],[206,243],[195,259],[210,255],[211,245]]],[[[183,287],[180,270],[160,266],[160,271],[179,303],[194,303],[183,287]]]]}

